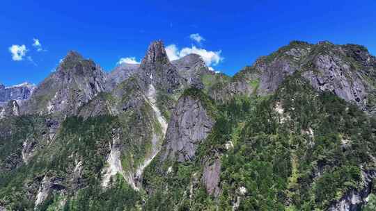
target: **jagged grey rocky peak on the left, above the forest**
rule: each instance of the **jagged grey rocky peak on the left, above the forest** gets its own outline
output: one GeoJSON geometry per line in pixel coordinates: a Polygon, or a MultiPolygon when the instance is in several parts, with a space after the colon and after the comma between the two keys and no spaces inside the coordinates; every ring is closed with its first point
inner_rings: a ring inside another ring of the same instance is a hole
{"type": "Polygon", "coordinates": [[[105,90],[105,80],[100,66],[70,51],[56,71],[38,85],[22,113],[76,114],[81,105],[105,90]]]}

